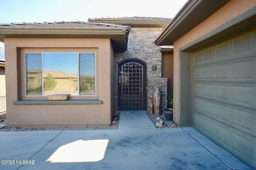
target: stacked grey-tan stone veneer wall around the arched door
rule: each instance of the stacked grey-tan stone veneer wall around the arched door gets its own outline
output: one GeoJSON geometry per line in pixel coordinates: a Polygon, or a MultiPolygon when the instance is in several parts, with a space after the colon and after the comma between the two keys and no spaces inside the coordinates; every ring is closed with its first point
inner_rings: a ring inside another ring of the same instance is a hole
{"type": "MultiPolygon", "coordinates": [[[[162,78],[162,53],[160,48],[154,45],[154,41],[162,32],[160,27],[134,27],[128,37],[128,49],[124,53],[115,54],[115,77],[114,77],[114,106],[118,110],[118,63],[125,59],[140,59],[147,63],[148,85],[160,85],[166,88],[167,80],[162,78]],[[157,71],[152,71],[152,65],[157,66],[157,71]],[[154,81],[156,80],[156,81],[154,81]],[[161,81],[163,80],[163,82],[161,81]],[[166,82],[166,83],[165,83],[166,82]],[[160,84],[159,84],[160,83],[160,84]]],[[[148,102],[152,102],[154,88],[148,88],[148,102]]],[[[161,96],[162,97],[162,96],[161,96]]],[[[161,98],[162,107],[167,107],[167,96],[161,98]],[[166,99],[165,99],[166,98],[166,99]]],[[[161,108],[162,108],[161,107],[161,108]]],[[[148,106],[149,108],[149,106],[148,106]]]]}

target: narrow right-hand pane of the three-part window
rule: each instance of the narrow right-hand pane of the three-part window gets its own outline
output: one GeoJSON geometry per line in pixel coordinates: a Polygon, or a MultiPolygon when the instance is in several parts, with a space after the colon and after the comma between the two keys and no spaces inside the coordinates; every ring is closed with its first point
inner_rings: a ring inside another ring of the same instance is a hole
{"type": "Polygon", "coordinates": [[[79,54],[80,95],[95,95],[95,54],[79,54]]]}

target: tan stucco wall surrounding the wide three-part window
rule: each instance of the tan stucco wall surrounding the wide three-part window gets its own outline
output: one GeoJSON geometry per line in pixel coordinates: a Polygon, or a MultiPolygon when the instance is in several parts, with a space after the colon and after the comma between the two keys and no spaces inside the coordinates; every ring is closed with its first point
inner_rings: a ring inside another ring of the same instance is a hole
{"type": "Polygon", "coordinates": [[[113,49],[110,39],[14,39],[6,38],[7,121],[12,127],[110,125],[113,106],[113,49]],[[70,96],[72,100],[100,100],[103,104],[36,104],[47,96],[26,96],[26,52],[96,53],[96,95],[70,96]],[[32,100],[32,105],[14,101],[32,100]]]}

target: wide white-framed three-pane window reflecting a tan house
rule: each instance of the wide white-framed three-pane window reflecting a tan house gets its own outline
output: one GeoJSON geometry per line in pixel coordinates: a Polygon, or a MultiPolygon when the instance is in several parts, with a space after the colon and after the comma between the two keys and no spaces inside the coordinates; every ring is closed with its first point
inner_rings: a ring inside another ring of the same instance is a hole
{"type": "Polygon", "coordinates": [[[26,96],[96,95],[95,53],[25,53],[26,96]]]}

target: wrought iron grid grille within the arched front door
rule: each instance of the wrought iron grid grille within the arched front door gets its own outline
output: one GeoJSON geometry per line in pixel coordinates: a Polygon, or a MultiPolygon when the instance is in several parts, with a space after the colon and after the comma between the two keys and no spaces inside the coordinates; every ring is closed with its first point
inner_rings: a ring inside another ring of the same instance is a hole
{"type": "Polygon", "coordinates": [[[122,109],[143,110],[143,66],[127,63],[122,66],[122,109]]]}

